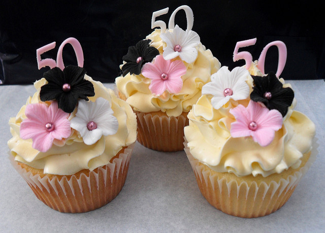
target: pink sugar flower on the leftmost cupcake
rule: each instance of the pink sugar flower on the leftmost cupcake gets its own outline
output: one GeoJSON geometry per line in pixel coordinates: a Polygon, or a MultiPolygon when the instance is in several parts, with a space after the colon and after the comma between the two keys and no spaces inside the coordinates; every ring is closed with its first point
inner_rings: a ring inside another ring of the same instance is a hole
{"type": "Polygon", "coordinates": [[[31,139],[32,148],[41,152],[48,151],[53,140],[68,138],[71,134],[69,113],[58,108],[53,101],[48,107],[45,104],[29,104],[26,106],[25,118],[20,124],[20,137],[31,139]]]}

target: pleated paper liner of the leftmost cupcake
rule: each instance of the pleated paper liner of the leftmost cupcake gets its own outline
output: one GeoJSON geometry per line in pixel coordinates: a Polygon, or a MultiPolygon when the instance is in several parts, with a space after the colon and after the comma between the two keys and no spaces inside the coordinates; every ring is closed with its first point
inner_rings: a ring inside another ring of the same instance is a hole
{"type": "Polygon", "coordinates": [[[35,195],[47,206],[66,213],[83,213],[111,202],[121,191],[135,143],[129,145],[102,167],[89,174],[52,176],[32,174],[22,168],[10,155],[13,167],[24,178],[35,195]]]}

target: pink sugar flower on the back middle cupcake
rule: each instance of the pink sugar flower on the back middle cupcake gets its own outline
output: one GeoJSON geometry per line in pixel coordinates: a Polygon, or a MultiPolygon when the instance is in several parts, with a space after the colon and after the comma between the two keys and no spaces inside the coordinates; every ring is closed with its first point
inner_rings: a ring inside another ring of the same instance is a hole
{"type": "Polygon", "coordinates": [[[151,79],[149,89],[153,94],[161,95],[168,90],[178,93],[182,89],[182,75],[186,73],[186,66],[181,60],[165,60],[163,55],[158,55],[154,63],[145,63],[142,75],[151,79]]]}

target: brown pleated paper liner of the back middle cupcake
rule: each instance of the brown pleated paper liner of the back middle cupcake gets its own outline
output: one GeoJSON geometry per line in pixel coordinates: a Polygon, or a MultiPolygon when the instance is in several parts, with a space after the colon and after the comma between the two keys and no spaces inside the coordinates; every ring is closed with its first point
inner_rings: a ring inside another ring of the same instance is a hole
{"type": "Polygon", "coordinates": [[[168,117],[164,113],[137,112],[138,141],[157,151],[181,151],[184,149],[184,127],[188,125],[187,113],[168,117]]]}

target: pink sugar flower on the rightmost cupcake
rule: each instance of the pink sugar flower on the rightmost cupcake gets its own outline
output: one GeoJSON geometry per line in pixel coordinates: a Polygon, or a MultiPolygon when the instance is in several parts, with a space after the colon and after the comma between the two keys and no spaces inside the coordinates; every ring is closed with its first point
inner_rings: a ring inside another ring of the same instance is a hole
{"type": "Polygon", "coordinates": [[[277,110],[269,110],[250,101],[247,108],[238,105],[231,109],[237,121],[231,124],[230,134],[233,138],[251,136],[254,142],[268,146],[274,139],[275,131],[282,127],[282,115],[277,110]]]}

